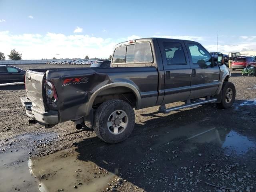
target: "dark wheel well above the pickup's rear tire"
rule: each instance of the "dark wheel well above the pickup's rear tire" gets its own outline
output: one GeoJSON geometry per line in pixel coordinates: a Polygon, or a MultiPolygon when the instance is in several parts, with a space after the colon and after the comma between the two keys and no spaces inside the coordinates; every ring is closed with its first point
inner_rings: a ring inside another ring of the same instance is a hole
{"type": "Polygon", "coordinates": [[[108,88],[98,94],[93,102],[93,107],[98,107],[107,100],[120,99],[128,102],[132,107],[136,107],[137,98],[134,92],[127,87],[108,88]]]}

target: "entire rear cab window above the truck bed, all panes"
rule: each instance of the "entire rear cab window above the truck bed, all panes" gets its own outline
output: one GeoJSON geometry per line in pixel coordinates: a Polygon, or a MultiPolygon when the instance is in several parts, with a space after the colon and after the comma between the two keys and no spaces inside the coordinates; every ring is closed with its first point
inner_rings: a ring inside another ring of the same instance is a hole
{"type": "Polygon", "coordinates": [[[152,50],[149,42],[138,42],[117,47],[112,59],[113,64],[139,64],[152,62],[152,50]]]}

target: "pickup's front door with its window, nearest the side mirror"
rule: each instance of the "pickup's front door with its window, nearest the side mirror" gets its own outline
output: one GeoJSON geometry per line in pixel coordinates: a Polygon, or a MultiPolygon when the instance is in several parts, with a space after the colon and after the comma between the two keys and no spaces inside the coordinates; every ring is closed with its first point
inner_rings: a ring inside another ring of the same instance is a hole
{"type": "Polygon", "coordinates": [[[210,53],[196,42],[186,42],[191,66],[190,99],[213,95],[220,84],[220,67],[210,53]]]}

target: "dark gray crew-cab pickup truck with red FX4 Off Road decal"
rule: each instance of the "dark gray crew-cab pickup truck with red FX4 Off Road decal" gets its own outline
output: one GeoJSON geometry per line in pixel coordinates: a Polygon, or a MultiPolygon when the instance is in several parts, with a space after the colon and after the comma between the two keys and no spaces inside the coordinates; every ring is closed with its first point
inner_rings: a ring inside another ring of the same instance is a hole
{"type": "Polygon", "coordinates": [[[108,143],[132,132],[135,109],[160,105],[168,113],[205,103],[232,106],[236,89],[223,55],[198,42],[143,38],[116,45],[110,68],[27,70],[26,114],[48,127],[72,120],[108,143]],[[166,108],[165,104],[184,105],[166,108]]]}

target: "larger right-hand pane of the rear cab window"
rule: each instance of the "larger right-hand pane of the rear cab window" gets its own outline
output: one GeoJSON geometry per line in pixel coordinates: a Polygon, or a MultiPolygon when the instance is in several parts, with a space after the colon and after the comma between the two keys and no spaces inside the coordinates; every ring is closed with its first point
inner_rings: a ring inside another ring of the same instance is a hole
{"type": "Polygon", "coordinates": [[[127,46],[126,63],[152,62],[152,53],[148,42],[136,43],[127,46]]]}

